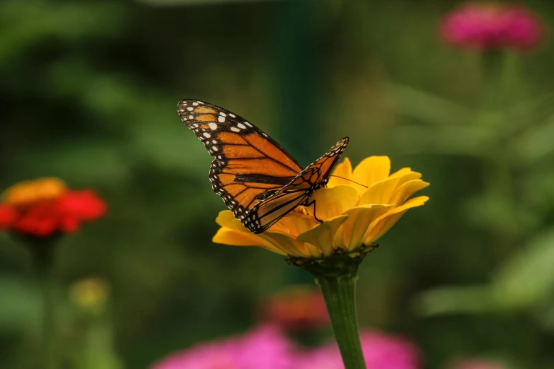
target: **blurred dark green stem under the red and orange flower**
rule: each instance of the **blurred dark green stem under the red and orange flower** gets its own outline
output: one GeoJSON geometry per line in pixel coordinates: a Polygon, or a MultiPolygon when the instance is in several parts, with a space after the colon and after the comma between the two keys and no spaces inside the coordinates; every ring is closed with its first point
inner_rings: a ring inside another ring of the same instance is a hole
{"type": "Polygon", "coordinates": [[[57,369],[54,279],[52,278],[54,246],[50,242],[37,242],[33,245],[32,252],[42,293],[42,368],[57,369]]]}

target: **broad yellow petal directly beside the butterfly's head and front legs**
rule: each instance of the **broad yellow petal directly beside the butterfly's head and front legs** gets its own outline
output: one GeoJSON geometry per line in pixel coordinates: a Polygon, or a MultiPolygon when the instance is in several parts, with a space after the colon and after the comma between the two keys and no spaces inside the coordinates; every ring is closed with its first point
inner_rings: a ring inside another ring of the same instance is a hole
{"type": "MultiPolygon", "coordinates": [[[[333,188],[322,188],[313,192],[310,201],[316,201],[316,216],[325,221],[335,218],[357,205],[358,192],[352,186],[339,185],[333,188]]],[[[308,206],[308,214],[313,217],[313,205],[308,206]]]]}

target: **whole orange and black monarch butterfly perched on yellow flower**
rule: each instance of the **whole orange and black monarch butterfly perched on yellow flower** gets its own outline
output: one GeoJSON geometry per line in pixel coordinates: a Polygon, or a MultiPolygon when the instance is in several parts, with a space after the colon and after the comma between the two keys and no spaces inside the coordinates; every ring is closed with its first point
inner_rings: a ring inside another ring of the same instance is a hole
{"type": "Polygon", "coordinates": [[[214,192],[253,233],[264,232],[296,206],[315,206],[311,194],[327,185],[348,144],[345,137],[302,169],[270,136],[228,110],[199,100],[181,100],[177,110],[214,156],[209,170],[214,192]]]}

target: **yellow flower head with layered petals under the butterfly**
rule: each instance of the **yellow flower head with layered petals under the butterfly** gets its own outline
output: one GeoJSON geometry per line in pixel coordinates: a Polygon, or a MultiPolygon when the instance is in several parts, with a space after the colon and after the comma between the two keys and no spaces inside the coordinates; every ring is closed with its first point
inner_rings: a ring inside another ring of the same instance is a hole
{"type": "Polygon", "coordinates": [[[313,206],[300,206],[264,233],[250,233],[233,216],[221,211],[216,221],[221,228],[213,241],[234,246],[260,246],[293,259],[325,259],[336,254],[355,257],[371,250],[373,242],[389,230],[408,209],[422,206],[426,196],[408,199],[429,183],[410,168],[389,174],[387,156],[371,156],[354,170],[350,160],[337,165],[328,187],[318,189],[313,206]]]}

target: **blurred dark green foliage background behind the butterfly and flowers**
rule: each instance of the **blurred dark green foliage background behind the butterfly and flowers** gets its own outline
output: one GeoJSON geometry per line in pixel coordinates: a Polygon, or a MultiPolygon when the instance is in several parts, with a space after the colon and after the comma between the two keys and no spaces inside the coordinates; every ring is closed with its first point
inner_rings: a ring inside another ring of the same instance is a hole
{"type": "MultiPolygon", "coordinates": [[[[110,208],[57,249],[64,350],[94,357],[74,367],[146,368],[313,283],[277,254],[212,243],[225,206],[176,112],[196,98],[304,165],[350,136],[352,163],[390,156],[431,183],[362,264],[362,327],[408,336],[425,368],[554,368],[554,3],[526,1],[546,37],[524,52],[444,42],[458,4],[1,1],[0,189],[57,176],[110,208]]],[[[39,320],[29,254],[1,233],[0,368],[37,368],[39,320]]]]}

